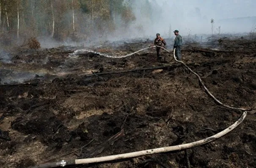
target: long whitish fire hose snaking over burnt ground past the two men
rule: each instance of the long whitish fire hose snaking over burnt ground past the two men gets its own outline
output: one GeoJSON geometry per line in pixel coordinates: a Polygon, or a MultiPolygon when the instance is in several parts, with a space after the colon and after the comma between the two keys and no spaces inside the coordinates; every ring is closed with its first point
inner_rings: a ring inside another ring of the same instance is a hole
{"type": "MultiPolygon", "coordinates": [[[[152,47],[156,47],[156,46],[152,46],[152,47]]],[[[152,47],[147,47],[146,49],[149,49],[149,48],[152,48],[152,47]]],[[[160,47],[160,46],[158,46],[158,47],[160,47]]],[[[170,51],[166,50],[163,47],[160,47],[160,48],[164,49],[168,53],[171,53],[170,51]]],[[[139,50],[139,51],[142,51],[142,50],[139,50]]],[[[136,52],[138,52],[138,51],[136,51],[136,52]]],[[[136,53],[136,52],[134,52],[134,53],[136,53]]],[[[134,54],[134,53],[132,53],[132,54],[134,54]]],[[[132,54],[128,54],[128,55],[132,55],[132,54]]],[[[124,57],[124,56],[122,56],[122,57],[124,57]]],[[[128,57],[128,56],[126,55],[126,57],[128,57]]],[[[179,60],[176,59],[175,49],[173,50],[173,57],[174,57],[174,60],[176,60],[177,62],[182,63],[188,70],[190,70],[191,73],[195,74],[195,76],[198,77],[199,82],[204,87],[205,91],[217,103],[219,103],[220,105],[225,106],[226,108],[229,108],[231,110],[243,111],[242,115],[239,117],[239,119],[236,122],[234,122],[234,124],[232,124],[231,126],[226,128],[225,130],[223,130],[223,131],[221,131],[221,132],[219,132],[215,135],[212,135],[208,138],[204,138],[202,140],[191,142],[191,143],[188,143],[188,144],[181,144],[181,145],[175,145],[175,146],[166,146],[166,147],[161,147],[161,148],[148,149],[148,150],[142,150],[142,151],[137,151],[137,152],[129,152],[129,153],[124,153],[124,154],[116,154],[116,155],[110,155],[110,156],[104,156],[104,157],[94,157],[94,158],[86,158],[86,159],[73,159],[73,160],[61,160],[61,161],[58,161],[58,162],[45,163],[45,164],[42,164],[42,165],[33,166],[31,168],[55,168],[55,167],[59,167],[59,166],[63,167],[65,165],[99,163],[99,162],[106,162],[106,161],[111,161],[111,160],[121,160],[121,159],[127,159],[127,158],[132,158],[132,157],[139,157],[139,156],[148,155],[148,154],[157,154],[157,153],[163,153],[163,152],[180,151],[182,149],[188,149],[188,148],[192,148],[192,147],[195,147],[195,146],[200,146],[200,145],[209,143],[211,141],[214,141],[215,139],[220,138],[223,135],[229,133],[231,130],[234,130],[235,127],[237,127],[239,124],[242,123],[242,121],[245,119],[245,117],[247,115],[247,110],[246,109],[244,109],[244,108],[234,108],[234,107],[228,106],[224,103],[221,103],[219,100],[217,100],[209,92],[209,90],[206,88],[206,86],[204,85],[203,81],[201,80],[200,76],[197,73],[195,73],[193,70],[191,70],[184,62],[179,61],[179,60]]]]}

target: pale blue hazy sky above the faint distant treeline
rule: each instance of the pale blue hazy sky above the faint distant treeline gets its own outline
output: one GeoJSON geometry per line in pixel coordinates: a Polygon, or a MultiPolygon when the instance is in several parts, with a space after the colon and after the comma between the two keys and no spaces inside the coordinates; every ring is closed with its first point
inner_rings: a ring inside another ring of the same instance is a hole
{"type": "MultiPolygon", "coordinates": [[[[151,0],[154,1],[154,0],[151,0]]],[[[255,0],[156,0],[162,8],[176,6],[185,13],[199,8],[202,16],[215,19],[256,16],[255,0]]],[[[172,10],[169,8],[169,10],[172,10]]]]}

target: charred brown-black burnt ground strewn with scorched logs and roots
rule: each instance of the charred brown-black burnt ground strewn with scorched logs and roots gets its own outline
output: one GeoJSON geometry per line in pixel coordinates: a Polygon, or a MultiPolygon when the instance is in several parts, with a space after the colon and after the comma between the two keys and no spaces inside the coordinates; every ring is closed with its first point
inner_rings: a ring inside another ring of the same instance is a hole
{"type": "MultiPolygon", "coordinates": [[[[105,44],[96,51],[125,55],[151,43],[105,44]]],[[[255,167],[255,47],[256,41],[246,39],[183,46],[182,60],[218,100],[252,109],[227,135],[188,149],[191,167],[255,167]]],[[[122,59],[70,55],[76,49],[16,49],[0,62],[0,167],[185,144],[220,132],[242,114],[216,104],[198,79],[166,52],[165,61],[157,62],[154,49],[122,59]],[[124,135],[111,140],[122,129],[124,135]]],[[[66,167],[160,168],[150,160],[187,167],[184,151],[66,167]]]]}

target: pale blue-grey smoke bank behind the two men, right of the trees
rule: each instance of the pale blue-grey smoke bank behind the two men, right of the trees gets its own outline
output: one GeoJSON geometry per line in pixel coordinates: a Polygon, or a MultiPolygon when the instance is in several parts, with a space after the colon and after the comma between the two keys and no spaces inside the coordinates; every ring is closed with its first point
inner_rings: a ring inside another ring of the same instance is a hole
{"type": "Polygon", "coordinates": [[[201,40],[201,36],[207,38],[212,32],[244,35],[256,23],[253,0],[134,0],[130,5],[135,21],[124,27],[122,17],[116,16],[114,32],[94,32],[96,43],[132,38],[153,40],[156,33],[164,38],[174,38],[174,30],[197,40],[201,40]],[[213,31],[211,19],[214,19],[213,31]]]}

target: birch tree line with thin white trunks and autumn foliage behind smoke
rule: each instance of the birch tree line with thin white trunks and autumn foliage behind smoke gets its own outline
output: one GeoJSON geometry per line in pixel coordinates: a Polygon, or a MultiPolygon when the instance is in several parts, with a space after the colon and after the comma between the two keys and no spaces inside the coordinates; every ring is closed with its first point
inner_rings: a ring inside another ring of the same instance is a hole
{"type": "Polygon", "coordinates": [[[0,0],[1,41],[49,36],[88,38],[135,21],[135,0],[0,0]]]}

